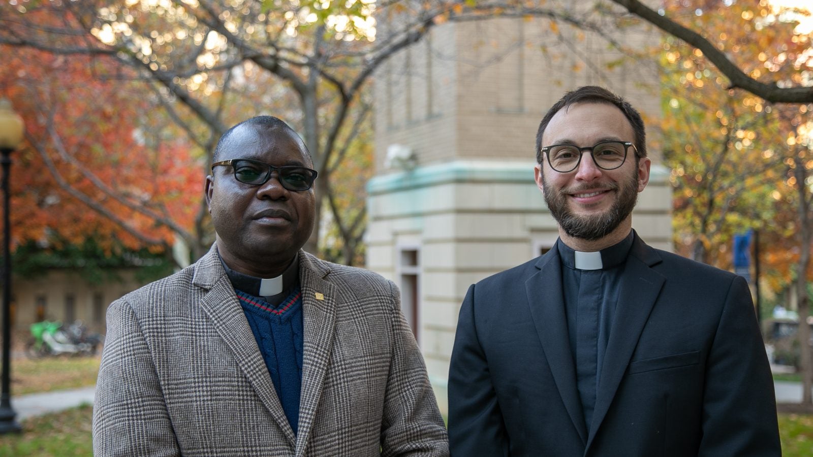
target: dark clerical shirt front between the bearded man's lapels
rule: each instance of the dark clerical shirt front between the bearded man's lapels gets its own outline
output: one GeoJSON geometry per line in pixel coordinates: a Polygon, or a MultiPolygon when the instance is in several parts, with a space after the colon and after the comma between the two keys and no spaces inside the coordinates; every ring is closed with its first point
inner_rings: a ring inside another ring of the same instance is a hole
{"type": "Polygon", "coordinates": [[[562,259],[562,288],[567,334],[576,366],[576,383],[590,429],[602,363],[618,302],[620,277],[633,246],[633,232],[621,242],[601,250],[600,269],[576,268],[576,252],[561,239],[556,243],[562,259]]]}

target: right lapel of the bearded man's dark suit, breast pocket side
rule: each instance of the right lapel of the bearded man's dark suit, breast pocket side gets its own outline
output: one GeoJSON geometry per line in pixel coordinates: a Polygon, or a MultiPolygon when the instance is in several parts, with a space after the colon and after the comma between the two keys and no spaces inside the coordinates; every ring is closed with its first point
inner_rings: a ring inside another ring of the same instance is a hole
{"type": "Polygon", "coordinates": [[[659,255],[650,246],[646,246],[636,234],[624,273],[621,275],[615,320],[611,326],[610,341],[607,342],[606,356],[602,364],[588,448],[610,408],[621,378],[627,371],[629,359],[632,358],[637,346],[638,337],[641,336],[663,282],[666,281],[660,273],[650,268],[659,262],[659,255]]]}

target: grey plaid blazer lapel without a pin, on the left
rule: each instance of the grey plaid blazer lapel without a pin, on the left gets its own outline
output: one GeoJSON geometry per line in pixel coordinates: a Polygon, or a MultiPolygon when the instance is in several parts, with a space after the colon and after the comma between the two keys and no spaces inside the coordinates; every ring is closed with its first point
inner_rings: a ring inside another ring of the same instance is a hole
{"type": "Polygon", "coordinates": [[[288,424],[285,411],[268,375],[263,355],[260,354],[254,334],[251,333],[246,315],[237,301],[232,283],[220,263],[215,246],[205,255],[195,268],[193,284],[207,289],[201,300],[201,307],[211,319],[212,325],[234,354],[237,365],[248,378],[254,392],[271,412],[272,417],[293,447],[295,437],[288,424]]]}

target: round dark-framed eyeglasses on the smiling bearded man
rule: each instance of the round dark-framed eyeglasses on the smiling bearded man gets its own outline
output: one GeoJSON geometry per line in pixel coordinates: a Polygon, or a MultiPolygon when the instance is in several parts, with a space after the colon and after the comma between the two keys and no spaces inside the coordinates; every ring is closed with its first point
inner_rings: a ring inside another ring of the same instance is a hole
{"type": "Polygon", "coordinates": [[[572,172],[579,167],[581,156],[584,155],[585,150],[589,150],[592,154],[593,163],[602,170],[615,170],[621,165],[624,165],[624,160],[627,159],[627,150],[633,147],[635,154],[638,153],[637,148],[629,141],[599,141],[593,146],[579,147],[574,145],[553,145],[546,146],[541,149],[548,158],[550,168],[560,173],[572,172]]]}

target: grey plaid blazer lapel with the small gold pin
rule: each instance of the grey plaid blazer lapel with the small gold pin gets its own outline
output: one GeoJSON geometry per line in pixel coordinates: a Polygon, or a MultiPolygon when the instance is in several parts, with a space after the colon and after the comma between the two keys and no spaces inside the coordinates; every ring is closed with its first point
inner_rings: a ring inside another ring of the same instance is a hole
{"type": "Polygon", "coordinates": [[[302,348],[302,394],[299,401],[296,455],[304,455],[333,350],[337,289],[324,280],[328,272],[330,270],[319,259],[304,251],[299,252],[305,339],[302,348]]]}

